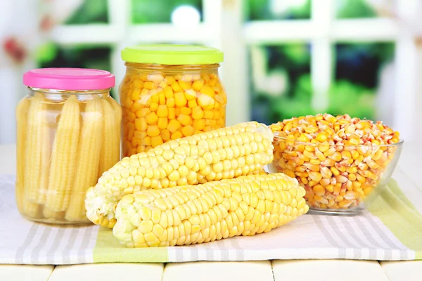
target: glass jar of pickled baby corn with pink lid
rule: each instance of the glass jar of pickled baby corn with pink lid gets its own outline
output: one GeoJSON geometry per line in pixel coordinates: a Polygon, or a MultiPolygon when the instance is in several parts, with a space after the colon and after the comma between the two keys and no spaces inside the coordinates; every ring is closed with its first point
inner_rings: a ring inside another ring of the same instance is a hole
{"type": "Polygon", "coordinates": [[[85,194],[120,159],[122,110],[103,70],[44,68],[23,77],[16,107],[18,211],[42,223],[85,224],[85,194]]]}

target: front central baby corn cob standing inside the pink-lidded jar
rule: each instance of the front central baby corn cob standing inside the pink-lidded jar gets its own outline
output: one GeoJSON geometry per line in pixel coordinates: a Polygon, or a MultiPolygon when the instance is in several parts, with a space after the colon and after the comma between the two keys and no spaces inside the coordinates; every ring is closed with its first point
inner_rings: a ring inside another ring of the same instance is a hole
{"type": "Polygon", "coordinates": [[[51,211],[65,211],[70,202],[74,183],[79,138],[79,103],[70,95],[63,105],[53,143],[49,196],[46,207],[51,211]]]}

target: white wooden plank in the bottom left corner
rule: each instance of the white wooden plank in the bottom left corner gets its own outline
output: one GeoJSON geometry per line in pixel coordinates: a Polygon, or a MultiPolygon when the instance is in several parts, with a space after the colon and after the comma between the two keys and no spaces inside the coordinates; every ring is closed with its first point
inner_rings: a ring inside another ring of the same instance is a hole
{"type": "Polygon", "coordinates": [[[29,266],[29,265],[0,265],[0,280],[31,280],[46,281],[49,280],[54,266],[29,266]]]}

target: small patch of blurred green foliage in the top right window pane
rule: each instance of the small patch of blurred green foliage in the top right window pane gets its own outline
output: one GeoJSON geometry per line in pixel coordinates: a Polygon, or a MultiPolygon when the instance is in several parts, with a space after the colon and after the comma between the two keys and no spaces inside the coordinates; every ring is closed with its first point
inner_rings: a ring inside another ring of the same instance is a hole
{"type": "Polygon", "coordinates": [[[376,18],[376,12],[365,0],[336,0],[336,18],[376,18]]]}

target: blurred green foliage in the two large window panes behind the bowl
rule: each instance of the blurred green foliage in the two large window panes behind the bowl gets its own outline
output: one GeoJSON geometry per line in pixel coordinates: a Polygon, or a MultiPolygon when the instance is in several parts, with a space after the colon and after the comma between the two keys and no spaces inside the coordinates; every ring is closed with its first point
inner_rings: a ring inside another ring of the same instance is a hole
{"type": "MultiPolygon", "coordinates": [[[[267,53],[267,74],[276,70],[287,73],[290,86],[273,96],[255,90],[252,85],[252,119],[271,124],[319,113],[312,108],[309,46],[291,44],[262,48],[267,53]]],[[[334,48],[335,73],[328,90],[326,112],[375,119],[378,74],[381,67],[392,60],[394,44],[338,44],[334,48]]]]}

